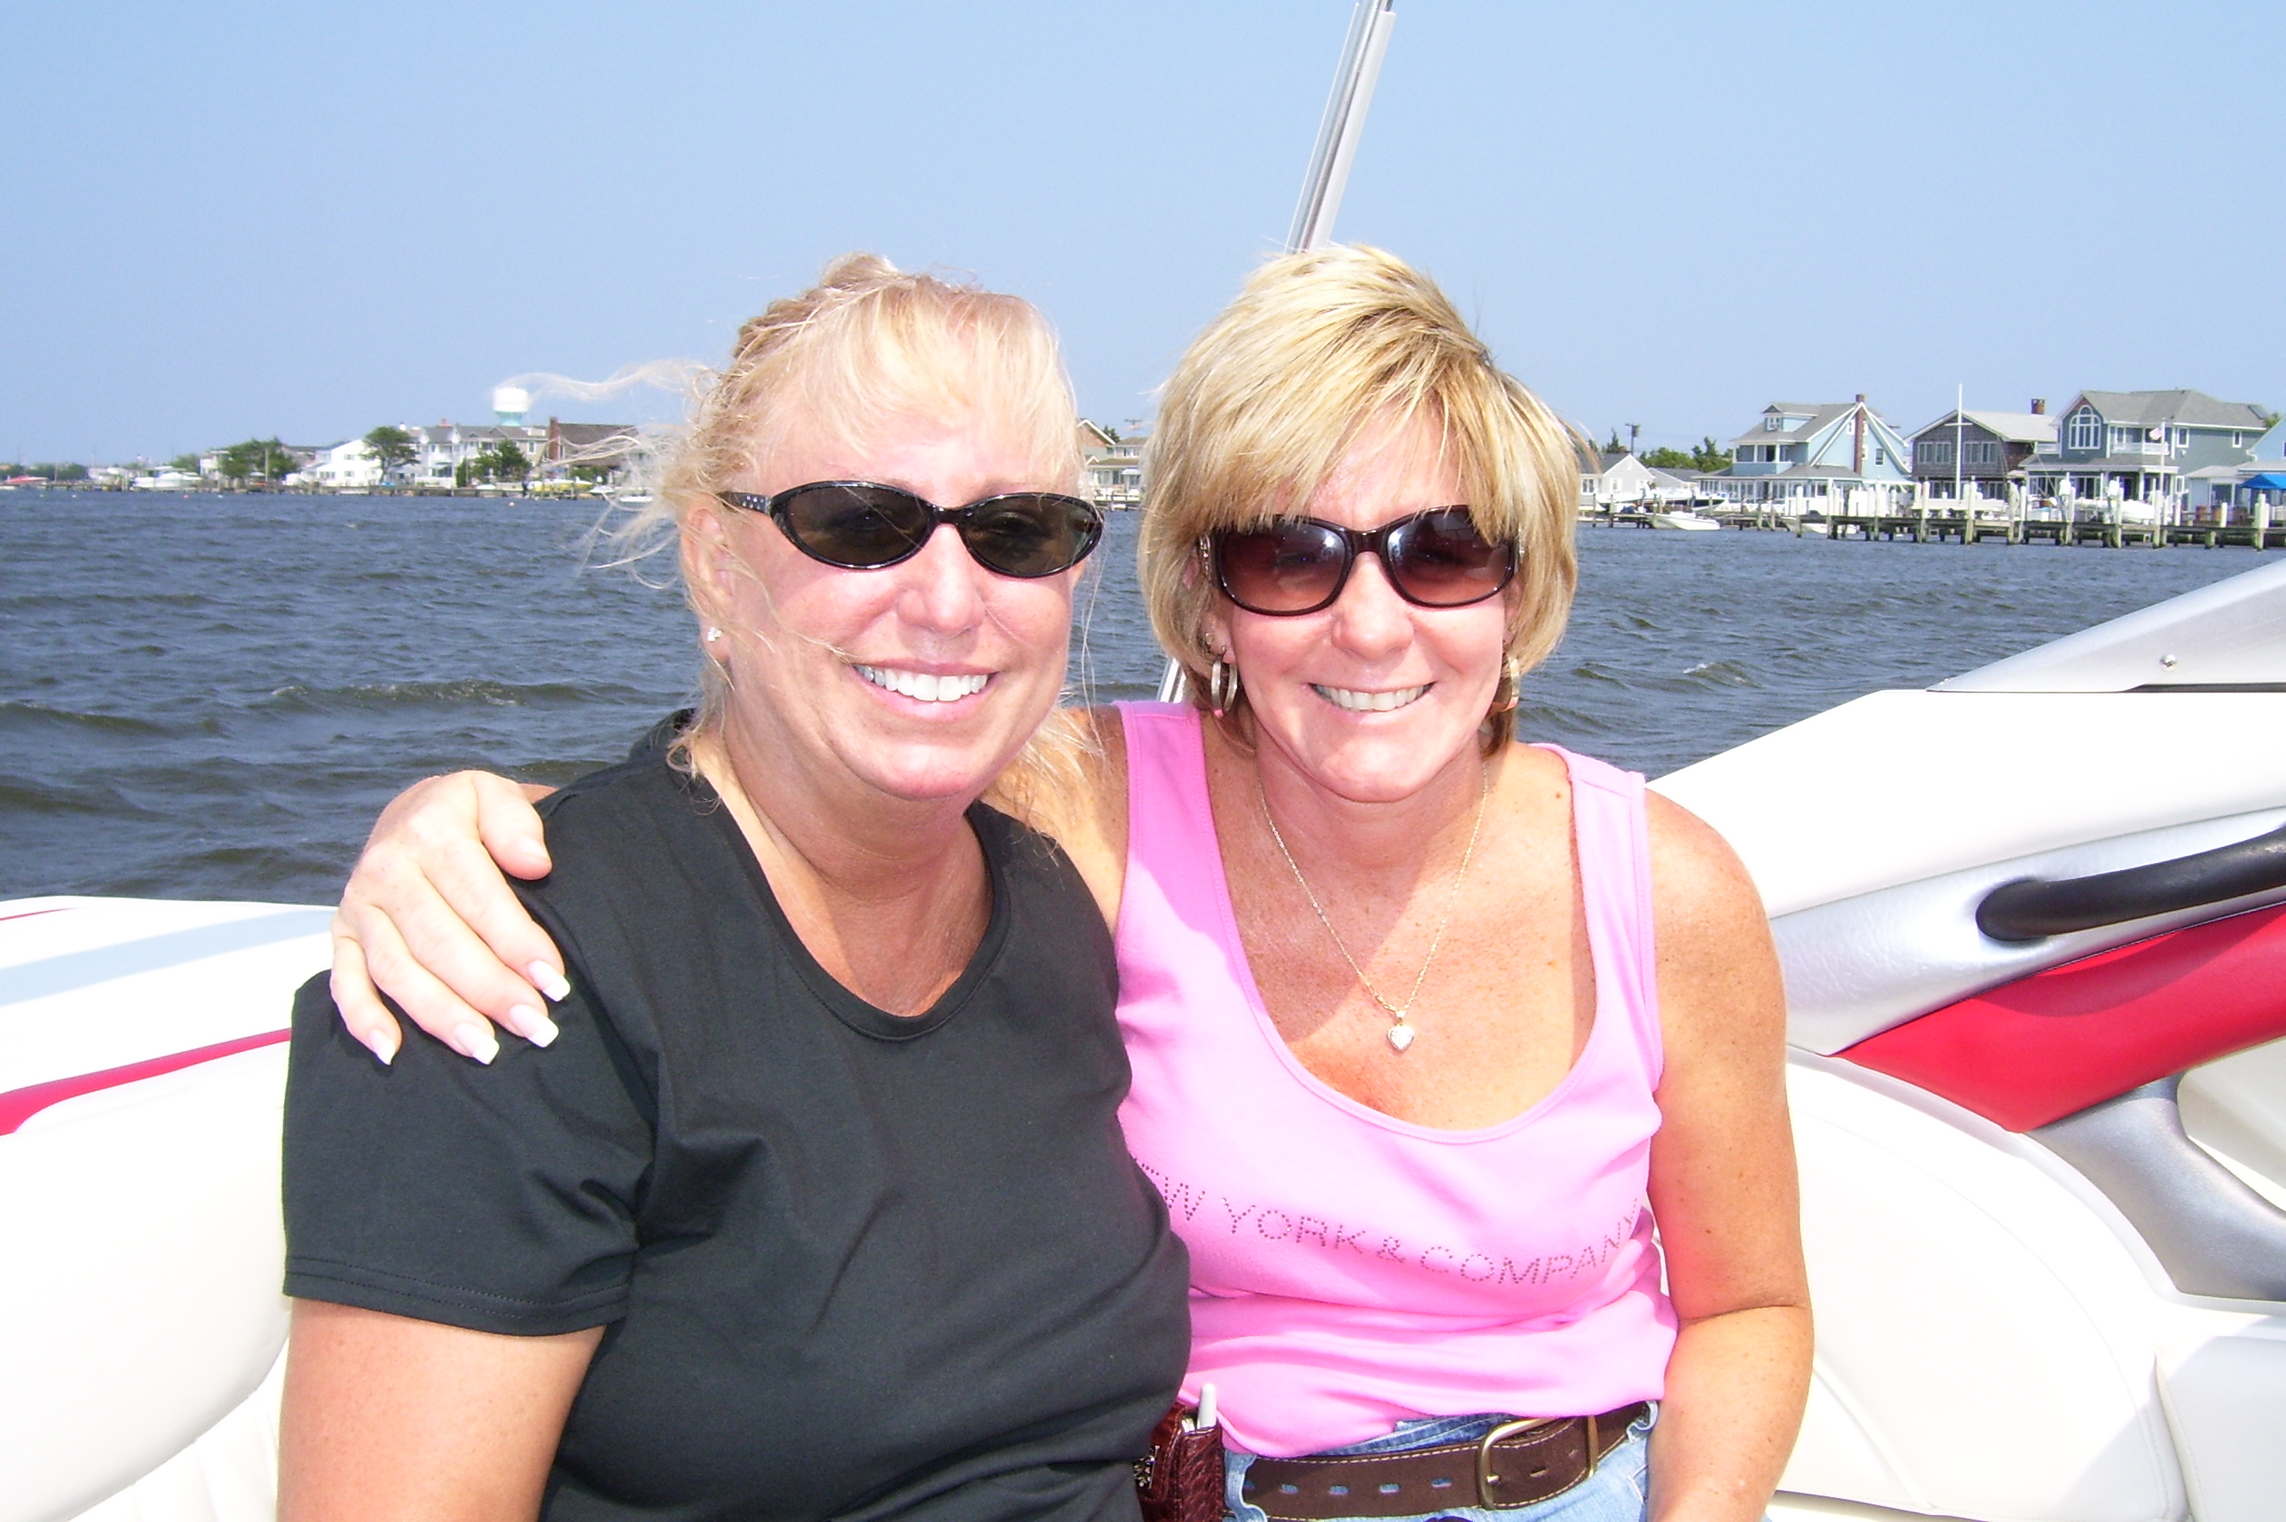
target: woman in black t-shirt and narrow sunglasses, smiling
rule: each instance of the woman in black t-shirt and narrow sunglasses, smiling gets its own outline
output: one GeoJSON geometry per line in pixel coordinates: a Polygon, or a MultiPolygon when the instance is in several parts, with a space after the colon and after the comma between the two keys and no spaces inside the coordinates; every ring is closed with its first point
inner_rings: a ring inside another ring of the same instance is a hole
{"type": "Polygon", "coordinates": [[[558,1049],[295,1010],[288,1522],[1134,1515],[1182,1250],[1095,905],[976,802],[1063,683],[1072,441],[1013,297],[848,258],[741,331],[658,491],[704,704],[546,804],[558,1049]]]}

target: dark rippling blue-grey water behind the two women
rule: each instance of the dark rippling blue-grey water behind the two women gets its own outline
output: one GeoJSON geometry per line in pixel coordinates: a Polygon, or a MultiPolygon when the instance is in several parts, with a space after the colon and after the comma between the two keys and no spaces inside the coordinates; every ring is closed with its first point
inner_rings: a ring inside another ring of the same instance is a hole
{"type": "MultiPolygon", "coordinates": [[[[684,702],[672,587],[601,569],[594,505],[0,494],[0,898],[331,903],[407,782],[565,782],[684,702]]],[[[1072,676],[1150,697],[1134,514],[1072,676]]],[[[1660,775],[2254,569],[2254,551],[1582,530],[1520,731],[1660,775]]],[[[656,564],[654,576],[672,574],[656,564]]]]}

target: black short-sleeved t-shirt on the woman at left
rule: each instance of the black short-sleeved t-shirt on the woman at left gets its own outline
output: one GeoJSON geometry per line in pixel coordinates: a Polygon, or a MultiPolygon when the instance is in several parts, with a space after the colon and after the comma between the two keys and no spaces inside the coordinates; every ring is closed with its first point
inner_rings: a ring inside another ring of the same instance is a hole
{"type": "Polygon", "coordinates": [[[608,1323],[546,1517],[1132,1522],[1186,1264],[1118,1129],[1111,937],[1054,841],[969,811],[990,928],[898,1019],[656,745],[542,814],[555,873],[519,894],[569,964],[553,1047],[382,1067],[302,990],[286,1293],[608,1323]]]}

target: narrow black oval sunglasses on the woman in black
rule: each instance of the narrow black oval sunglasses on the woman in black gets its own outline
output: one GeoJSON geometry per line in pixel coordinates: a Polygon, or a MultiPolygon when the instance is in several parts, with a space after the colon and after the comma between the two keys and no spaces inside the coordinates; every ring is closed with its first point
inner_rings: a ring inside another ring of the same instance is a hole
{"type": "Polygon", "coordinates": [[[814,480],[773,496],[716,491],[732,507],[766,512],[793,548],[844,571],[880,571],[912,560],[937,523],[960,530],[976,564],[1001,576],[1054,576],[1088,558],[1104,537],[1095,503],[1056,491],[1008,491],[967,507],[937,507],[903,487],[814,480]]]}

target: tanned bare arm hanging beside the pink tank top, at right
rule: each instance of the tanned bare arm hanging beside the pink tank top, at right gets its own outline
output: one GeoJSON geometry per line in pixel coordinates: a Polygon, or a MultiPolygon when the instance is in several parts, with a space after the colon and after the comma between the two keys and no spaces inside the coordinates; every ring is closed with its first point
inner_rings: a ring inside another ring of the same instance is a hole
{"type": "Polygon", "coordinates": [[[1811,1296],[1785,1113],[1785,990],[1753,882],[1650,798],[1666,1067],[1650,1207],[1680,1319],[1650,1442],[1657,1522],[1753,1522],[1792,1453],[1811,1296]]]}

